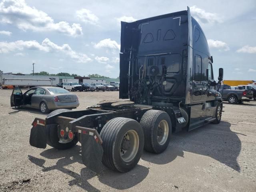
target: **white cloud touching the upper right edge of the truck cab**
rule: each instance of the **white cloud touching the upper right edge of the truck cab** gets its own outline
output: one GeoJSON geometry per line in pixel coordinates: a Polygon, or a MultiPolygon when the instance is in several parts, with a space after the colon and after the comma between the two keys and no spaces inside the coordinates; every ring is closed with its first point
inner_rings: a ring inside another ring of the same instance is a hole
{"type": "Polygon", "coordinates": [[[206,23],[220,23],[222,22],[220,17],[216,13],[206,12],[203,9],[196,7],[195,5],[190,7],[191,15],[204,24],[206,23]]]}

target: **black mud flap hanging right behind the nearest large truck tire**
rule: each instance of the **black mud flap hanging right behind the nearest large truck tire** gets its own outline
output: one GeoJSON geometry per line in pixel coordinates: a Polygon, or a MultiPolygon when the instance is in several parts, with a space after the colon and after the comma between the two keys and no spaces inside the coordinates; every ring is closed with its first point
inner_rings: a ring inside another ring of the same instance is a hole
{"type": "Polygon", "coordinates": [[[97,136],[98,135],[96,135],[95,133],[80,134],[80,143],[82,145],[83,164],[93,172],[100,173],[103,166],[101,163],[103,156],[103,148],[100,140],[97,139],[97,136]]]}

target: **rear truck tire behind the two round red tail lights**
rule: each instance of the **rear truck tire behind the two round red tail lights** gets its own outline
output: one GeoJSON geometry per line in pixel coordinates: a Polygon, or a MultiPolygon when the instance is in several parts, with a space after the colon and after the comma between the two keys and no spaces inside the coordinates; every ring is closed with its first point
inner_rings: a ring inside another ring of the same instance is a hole
{"type": "MultiPolygon", "coordinates": [[[[57,109],[48,114],[47,117],[52,117],[57,114],[71,111],[69,109],[57,109]]],[[[75,146],[78,142],[78,138],[74,134],[74,139],[69,143],[59,143],[58,137],[58,124],[46,125],[46,143],[56,149],[69,149],[75,146]]]]}

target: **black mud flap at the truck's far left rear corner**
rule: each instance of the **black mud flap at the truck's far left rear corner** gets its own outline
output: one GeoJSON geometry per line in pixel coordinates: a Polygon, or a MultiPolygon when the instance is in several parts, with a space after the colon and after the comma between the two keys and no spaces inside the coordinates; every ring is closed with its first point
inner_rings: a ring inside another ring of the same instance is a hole
{"type": "Polygon", "coordinates": [[[46,128],[44,120],[36,118],[32,123],[33,127],[30,131],[29,143],[36,148],[46,148],[46,128]]]}

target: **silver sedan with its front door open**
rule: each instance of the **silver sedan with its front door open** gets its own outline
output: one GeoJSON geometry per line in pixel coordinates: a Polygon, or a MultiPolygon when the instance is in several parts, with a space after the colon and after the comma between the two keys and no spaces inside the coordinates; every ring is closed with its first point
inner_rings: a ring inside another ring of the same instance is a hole
{"type": "Polygon", "coordinates": [[[11,106],[39,109],[48,113],[55,109],[72,109],[79,106],[78,96],[70,94],[59,87],[33,87],[24,94],[18,87],[14,87],[11,95],[11,106]]]}

